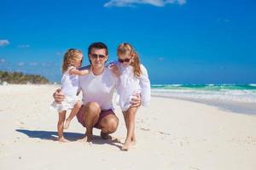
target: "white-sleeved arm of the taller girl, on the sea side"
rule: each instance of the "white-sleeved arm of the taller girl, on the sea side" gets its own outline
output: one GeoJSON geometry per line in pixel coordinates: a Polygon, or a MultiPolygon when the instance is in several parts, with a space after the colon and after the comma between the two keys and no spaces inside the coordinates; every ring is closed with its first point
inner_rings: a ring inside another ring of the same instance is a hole
{"type": "Polygon", "coordinates": [[[142,75],[139,77],[140,79],[140,87],[142,88],[142,105],[146,106],[149,104],[151,88],[150,81],[148,79],[148,71],[147,69],[141,65],[142,75]]]}

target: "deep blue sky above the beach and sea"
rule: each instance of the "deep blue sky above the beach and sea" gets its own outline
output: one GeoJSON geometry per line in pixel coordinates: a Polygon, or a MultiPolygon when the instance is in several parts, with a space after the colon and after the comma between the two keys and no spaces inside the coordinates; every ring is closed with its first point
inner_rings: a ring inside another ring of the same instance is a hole
{"type": "MultiPolygon", "coordinates": [[[[131,42],[153,84],[255,83],[254,0],[0,0],[0,70],[61,80],[68,48],[131,42]]],[[[83,65],[89,61],[84,59],[83,65]]]]}

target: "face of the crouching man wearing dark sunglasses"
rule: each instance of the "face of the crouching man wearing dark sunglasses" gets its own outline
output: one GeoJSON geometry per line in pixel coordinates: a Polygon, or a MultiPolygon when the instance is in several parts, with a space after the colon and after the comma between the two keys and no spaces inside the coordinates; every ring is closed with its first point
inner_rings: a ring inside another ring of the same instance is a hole
{"type": "Polygon", "coordinates": [[[92,48],[89,54],[90,62],[93,67],[102,68],[108,59],[106,49],[92,48]]]}

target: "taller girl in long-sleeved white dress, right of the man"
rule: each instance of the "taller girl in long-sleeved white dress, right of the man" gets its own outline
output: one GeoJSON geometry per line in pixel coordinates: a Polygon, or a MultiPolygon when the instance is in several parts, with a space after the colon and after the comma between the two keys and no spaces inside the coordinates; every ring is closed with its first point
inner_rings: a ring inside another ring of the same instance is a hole
{"type": "Polygon", "coordinates": [[[150,82],[146,68],[140,64],[139,56],[129,43],[121,43],[117,49],[119,62],[113,68],[113,72],[119,75],[117,91],[119,105],[125,118],[127,135],[122,150],[129,150],[136,143],[135,116],[138,107],[131,107],[131,99],[141,96],[142,105],[148,105],[150,100],[150,82]]]}

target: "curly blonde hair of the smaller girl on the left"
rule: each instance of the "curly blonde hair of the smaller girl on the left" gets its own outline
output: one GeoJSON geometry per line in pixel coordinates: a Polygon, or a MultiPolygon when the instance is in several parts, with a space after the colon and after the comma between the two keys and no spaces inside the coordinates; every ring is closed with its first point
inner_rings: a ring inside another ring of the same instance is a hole
{"type": "Polygon", "coordinates": [[[62,63],[62,73],[67,71],[69,66],[73,65],[73,60],[79,58],[82,54],[82,51],[79,49],[70,48],[67,50],[64,55],[63,63],[62,63]]]}

